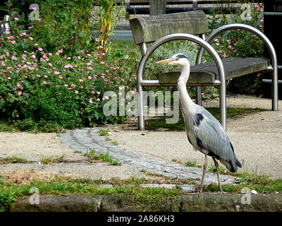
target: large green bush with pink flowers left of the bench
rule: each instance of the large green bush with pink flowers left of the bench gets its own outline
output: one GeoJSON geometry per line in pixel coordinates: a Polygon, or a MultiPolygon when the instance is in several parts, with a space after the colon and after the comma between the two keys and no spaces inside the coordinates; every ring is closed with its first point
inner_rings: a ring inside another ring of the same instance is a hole
{"type": "Polygon", "coordinates": [[[14,32],[0,38],[0,114],[20,129],[73,129],[116,122],[106,117],[106,90],[135,92],[135,79],[96,52],[81,50],[74,57],[64,49],[47,52],[35,37],[14,32]],[[23,48],[25,47],[25,48],[23,48]]]}

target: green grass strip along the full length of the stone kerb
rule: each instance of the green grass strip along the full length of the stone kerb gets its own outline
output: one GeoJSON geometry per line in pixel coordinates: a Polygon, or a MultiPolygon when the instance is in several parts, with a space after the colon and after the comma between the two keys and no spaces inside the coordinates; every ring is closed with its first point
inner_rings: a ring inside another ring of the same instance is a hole
{"type": "MultiPolygon", "coordinates": [[[[144,171],[145,172],[145,171],[144,171]]],[[[240,183],[235,185],[223,185],[225,192],[240,193],[245,187],[255,189],[259,193],[271,193],[282,191],[282,179],[270,179],[266,175],[235,173],[240,178],[240,183]]],[[[71,177],[51,177],[44,181],[33,181],[29,184],[16,184],[6,182],[0,175],[0,210],[7,211],[14,201],[28,198],[30,188],[39,189],[39,196],[62,196],[62,195],[118,195],[135,198],[135,204],[140,206],[155,205],[164,198],[178,200],[180,195],[185,194],[179,186],[175,189],[142,187],[140,184],[187,184],[193,183],[185,179],[145,179],[130,177],[127,180],[119,178],[104,179],[73,179],[71,177]],[[100,184],[112,184],[113,187],[99,187],[100,184]]],[[[194,182],[195,183],[195,182],[194,182]]],[[[195,184],[196,185],[196,184],[195,184]]],[[[200,186],[199,186],[200,188],[200,186]]],[[[204,186],[204,192],[217,192],[217,184],[204,186]]],[[[177,210],[177,208],[176,208],[177,210]]]]}

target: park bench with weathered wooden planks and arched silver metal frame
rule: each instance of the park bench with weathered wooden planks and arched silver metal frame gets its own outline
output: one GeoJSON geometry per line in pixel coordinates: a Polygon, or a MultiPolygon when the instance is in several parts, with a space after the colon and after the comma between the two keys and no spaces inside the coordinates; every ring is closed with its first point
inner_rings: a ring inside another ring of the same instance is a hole
{"type": "MultiPolygon", "coordinates": [[[[142,88],[145,86],[176,86],[180,71],[171,71],[159,75],[158,80],[143,78],[145,64],[155,49],[172,40],[188,40],[200,44],[202,47],[197,54],[196,65],[191,66],[190,78],[187,85],[197,86],[198,105],[202,104],[202,86],[220,86],[220,122],[226,129],[226,79],[244,76],[249,73],[271,71],[272,73],[272,110],[278,109],[278,75],[276,52],[269,39],[256,28],[245,24],[224,25],[209,32],[207,16],[203,11],[190,11],[184,13],[171,13],[159,16],[147,16],[130,19],[135,44],[140,46],[142,59],[137,72],[138,95],[138,126],[145,129],[144,97],[142,88]],[[271,59],[266,58],[228,58],[221,59],[216,50],[209,44],[211,40],[226,30],[247,30],[261,38],[269,50],[271,59]],[[147,43],[152,43],[147,49],[147,43]],[[202,63],[204,49],[212,55],[214,61],[202,63]]],[[[175,53],[176,54],[176,53],[175,53]]]]}

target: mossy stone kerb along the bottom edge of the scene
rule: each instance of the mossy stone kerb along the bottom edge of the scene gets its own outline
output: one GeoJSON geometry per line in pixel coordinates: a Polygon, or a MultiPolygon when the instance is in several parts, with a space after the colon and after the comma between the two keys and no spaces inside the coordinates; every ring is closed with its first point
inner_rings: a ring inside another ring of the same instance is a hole
{"type": "Polygon", "coordinates": [[[282,194],[187,194],[142,205],[133,196],[42,196],[17,201],[11,212],[281,212],[282,194]],[[245,202],[250,199],[250,203],[245,202]]]}

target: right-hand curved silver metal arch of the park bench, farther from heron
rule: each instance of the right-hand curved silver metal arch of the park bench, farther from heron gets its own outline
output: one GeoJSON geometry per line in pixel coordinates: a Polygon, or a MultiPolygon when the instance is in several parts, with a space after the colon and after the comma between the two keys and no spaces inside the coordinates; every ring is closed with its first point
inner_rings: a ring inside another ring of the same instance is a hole
{"type": "MultiPolygon", "coordinates": [[[[272,110],[276,111],[278,110],[278,65],[277,65],[277,57],[276,52],[274,49],[273,44],[270,42],[269,38],[264,35],[263,32],[257,30],[257,28],[253,28],[250,25],[245,25],[242,23],[233,23],[224,25],[221,28],[217,28],[212,33],[209,34],[209,36],[206,39],[206,42],[210,42],[219,35],[221,32],[224,32],[226,30],[234,30],[234,29],[241,29],[241,30],[247,30],[249,32],[252,32],[253,34],[260,37],[260,39],[264,42],[267,49],[269,50],[269,54],[271,56],[271,63],[272,63],[272,110]]],[[[204,53],[204,49],[201,48],[200,51],[197,54],[197,64],[201,64],[202,62],[202,55],[204,53]]]]}

